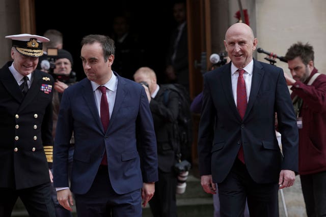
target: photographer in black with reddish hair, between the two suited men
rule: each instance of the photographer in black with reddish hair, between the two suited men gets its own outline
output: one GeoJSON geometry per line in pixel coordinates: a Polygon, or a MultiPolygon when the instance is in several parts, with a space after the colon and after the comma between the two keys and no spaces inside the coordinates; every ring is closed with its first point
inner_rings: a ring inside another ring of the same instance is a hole
{"type": "Polygon", "coordinates": [[[158,181],[155,182],[155,194],[149,205],[154,217],[175,217],[177,175],[173,166],[177,163],[179,144],[173,143],[173,122],[179,112],[178,94],[171,91],[165,103],[166,86],[156,83],[156,74],[148,67],[139,68],[133,78],[135,82],[142,83],[146,90],[157,140],[158,181]]]}

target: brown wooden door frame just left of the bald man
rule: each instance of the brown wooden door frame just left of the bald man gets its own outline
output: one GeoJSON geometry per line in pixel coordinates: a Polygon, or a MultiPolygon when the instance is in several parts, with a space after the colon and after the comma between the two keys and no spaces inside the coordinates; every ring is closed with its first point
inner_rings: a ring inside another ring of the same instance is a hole
{"type": "MultiPolygon", "coordinates": [[[[203,90],[203,73],[210,67],[211,17],[210,0],[187,0],[189,94],[194,99],[203,90]]],[[[192,163],[198,167],[199,114],[193,114],[192,163]]]]}

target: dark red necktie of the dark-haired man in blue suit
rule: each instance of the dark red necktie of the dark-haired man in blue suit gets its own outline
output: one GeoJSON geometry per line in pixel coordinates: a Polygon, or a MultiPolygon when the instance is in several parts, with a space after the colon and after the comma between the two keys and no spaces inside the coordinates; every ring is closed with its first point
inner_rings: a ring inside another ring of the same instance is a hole
{"type": "MultiPolygon", "coordinates": [[[[108,122],[110,121],[110,113],[108,112],[108,102],[106,98],[106,87],[105,86],[99,86],[98,87],[101,92],[101,105],[100,105],[100,117],[101,117],[101,122],[103,125],[104,132],[106,132],[108,122]]],[[[107,158],[106,158],[106,150],[104,151],[104,156],[101,161],[102,165],[107,165],[107,158]]]]}

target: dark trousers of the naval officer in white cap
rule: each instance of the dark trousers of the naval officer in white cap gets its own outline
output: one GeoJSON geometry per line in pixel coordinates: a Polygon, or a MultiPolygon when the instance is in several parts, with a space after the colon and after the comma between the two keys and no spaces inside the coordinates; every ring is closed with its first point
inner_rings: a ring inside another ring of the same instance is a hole
{"type": "Polygon", "coordinates": [[[55,217],[51,190],[50,182],[22,190],[0,188],[0,216],[10,217],[19,197],[30,216],[55,217]]]}

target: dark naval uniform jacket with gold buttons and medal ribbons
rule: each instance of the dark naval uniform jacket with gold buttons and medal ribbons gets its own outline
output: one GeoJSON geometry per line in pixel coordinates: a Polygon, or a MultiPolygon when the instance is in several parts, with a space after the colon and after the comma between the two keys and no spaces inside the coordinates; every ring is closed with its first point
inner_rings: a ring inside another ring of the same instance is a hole
{"type": "Polygon", "coordinates": [[[53,78],[35,70],[24,97],[11,64],[0,69],[0,188],[19,190],[50,181],[53,78]]]}

